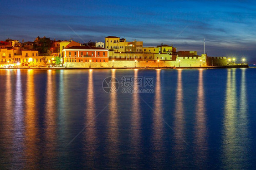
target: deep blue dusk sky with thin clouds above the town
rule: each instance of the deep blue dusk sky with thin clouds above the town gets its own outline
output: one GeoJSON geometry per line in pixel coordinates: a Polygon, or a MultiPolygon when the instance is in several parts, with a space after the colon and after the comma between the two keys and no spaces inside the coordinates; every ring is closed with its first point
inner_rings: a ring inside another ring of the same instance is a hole
{"type": "Polygon", "coordinates": [[[52,0],[0,2],[0,39],[46,36],[80,43],[118,36],[256,63],[256,2],[52,0]]]}

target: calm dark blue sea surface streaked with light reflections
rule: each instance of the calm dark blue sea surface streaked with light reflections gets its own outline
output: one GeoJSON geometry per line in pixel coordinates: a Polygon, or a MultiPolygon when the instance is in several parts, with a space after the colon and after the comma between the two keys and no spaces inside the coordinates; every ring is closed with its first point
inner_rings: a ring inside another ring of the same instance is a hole
{"type": "Polygon", "coordinates": [[[0,169],[255,167],[254,68],[0,70],[0,169]]]}

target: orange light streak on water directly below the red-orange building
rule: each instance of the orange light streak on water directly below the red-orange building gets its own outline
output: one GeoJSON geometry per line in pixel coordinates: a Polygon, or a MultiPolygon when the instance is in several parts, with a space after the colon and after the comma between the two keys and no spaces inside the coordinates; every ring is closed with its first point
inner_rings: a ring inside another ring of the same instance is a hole
{"type": "Polygon", "coordinates": [[[86,164],[89,169],[97,169],[95,160],[97,160],[97,134],[96,134],[96,121],[95,115],[95,99],[93,87],[93,70],[88,73],[88,87],[87,87],[87,100],[86,100],[86,122],[85,122],[85,155],[86,164]]]}

